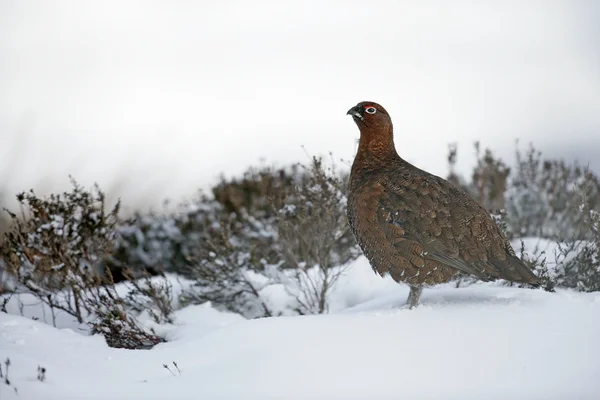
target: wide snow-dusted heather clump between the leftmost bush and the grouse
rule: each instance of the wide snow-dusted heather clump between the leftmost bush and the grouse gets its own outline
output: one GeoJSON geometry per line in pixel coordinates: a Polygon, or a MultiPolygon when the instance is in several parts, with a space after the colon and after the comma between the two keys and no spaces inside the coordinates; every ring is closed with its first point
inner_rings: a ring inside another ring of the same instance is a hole
{"type": "Polygon", "coordinates": [[[210,301],[249,318],[274,314],[261,294],[273,284],[296,299],[298,312],[325,312],[340,267],[359,254],[345,191],[346,179],[320,159],[250,168],[222,178],[213,198],[119,226],[112,269],[177,273],[195,281],[183,304],[210,301]]]}

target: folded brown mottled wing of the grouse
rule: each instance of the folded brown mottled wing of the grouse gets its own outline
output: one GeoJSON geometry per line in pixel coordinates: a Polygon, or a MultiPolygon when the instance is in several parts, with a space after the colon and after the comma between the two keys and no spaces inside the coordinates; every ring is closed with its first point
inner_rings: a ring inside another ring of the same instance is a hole
{"type": "Polygon", "coordinates": [[[534,279],[477,202],[441,178],[432,178],[401,177],[379,197],[379,213],[388,222],[384,232],[399,251],[419,248],[425,260],[484,280],[534,279]]]}

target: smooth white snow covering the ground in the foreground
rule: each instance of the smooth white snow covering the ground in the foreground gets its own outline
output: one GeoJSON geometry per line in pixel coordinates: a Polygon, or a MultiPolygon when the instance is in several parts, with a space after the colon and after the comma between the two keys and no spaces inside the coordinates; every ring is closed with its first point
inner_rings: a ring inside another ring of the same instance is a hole
{"type": "Polygon", "coordinates": [[[245,320],[192,306],[148,351],[0,313],[18,389],[1,384],[0,398],[600,398],[600,293],[444,285],[406,310],[407,293],[361,258],[328,315],[245,320]]]}

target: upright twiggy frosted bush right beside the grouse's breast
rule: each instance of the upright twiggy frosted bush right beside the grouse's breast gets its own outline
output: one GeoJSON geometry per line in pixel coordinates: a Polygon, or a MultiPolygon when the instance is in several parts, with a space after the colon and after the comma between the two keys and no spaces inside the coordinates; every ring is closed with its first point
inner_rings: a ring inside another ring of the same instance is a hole
{"type": "Polygon", "coordinates": [[[345,266],[360,254],[346,217],[346,181],[320,158],[302,166],[302,179],[276,216],[282,267],[278,280],[301,314],[328,310],[328,296],[345,266]]]}

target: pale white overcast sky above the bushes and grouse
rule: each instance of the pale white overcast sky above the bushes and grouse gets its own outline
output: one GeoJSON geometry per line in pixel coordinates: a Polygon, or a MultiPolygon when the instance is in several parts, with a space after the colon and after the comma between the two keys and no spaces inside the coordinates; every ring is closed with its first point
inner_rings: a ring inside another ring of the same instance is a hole
{"type": "MultiPolygon", "coordinates": [[[[260,159],[351,160],[362,100],[446,173],[474,140],[600,150],[598,2],[0,0],[0,191],[156,206],[260,159]]],[[[572,154],[567,154],[569,157],[572,154]]],[[[581,160],[595,162],[594,159],[581,160]]]]}

